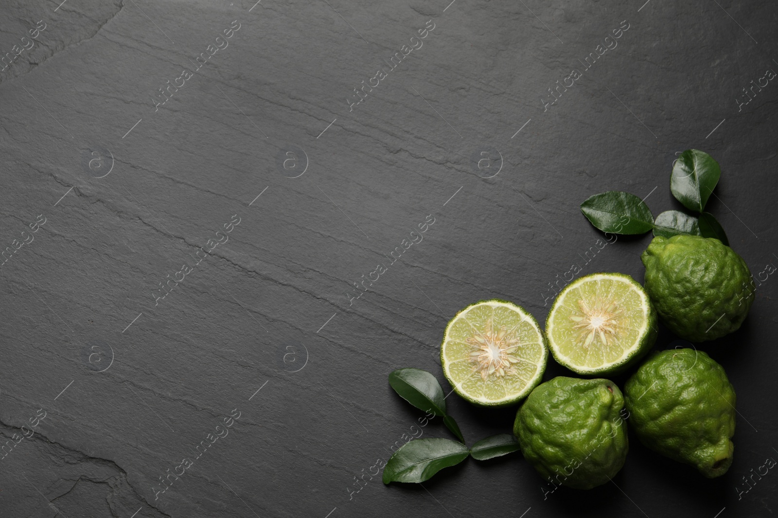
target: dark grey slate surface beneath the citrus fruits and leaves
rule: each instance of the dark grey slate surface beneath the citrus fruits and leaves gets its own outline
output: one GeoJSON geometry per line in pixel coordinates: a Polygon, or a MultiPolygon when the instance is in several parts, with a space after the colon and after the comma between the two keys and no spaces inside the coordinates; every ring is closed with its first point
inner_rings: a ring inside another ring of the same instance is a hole
{"type": "MultiPolygon", "coordinates": [[[[578,210],[587,196],[679,208],[671,162],[709,151],[724,172],[710,210],[734,249],[755,274],[778,262],[778,85],[742,92],[778,70],[774,5],[448,2],[2,2],[0,50],[21,54],[0,72],[0,237],[16,250],[0,272],[0,433],[32,436],[0,461],[0,515],[776,513],[778,475],[753,475],[778,457],[774,275],[743,328],[703,346],[738,393],[724,477],[633,440],[614,484],[590,492],[544,495],[518,454],[423,487],[370,478],[410,434],[448,436],[419,428],[387,374],[442,380],[457,310],[500,297],[542,323],[573,264],[643,280],[648,235],[586,262],[601,238],[578,210]],[[222,243],[206,255],[209,239],[222,243]]],[[[448,402],[470,443],[510,430],[515,408],[448,402]]]]}

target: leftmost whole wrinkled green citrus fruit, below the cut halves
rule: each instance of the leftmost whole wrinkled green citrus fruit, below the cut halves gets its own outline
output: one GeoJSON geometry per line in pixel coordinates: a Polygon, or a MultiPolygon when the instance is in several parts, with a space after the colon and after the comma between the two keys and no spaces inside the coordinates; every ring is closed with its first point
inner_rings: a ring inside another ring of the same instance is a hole
{"type": "Polygon", "coordinates": [[[612,381],[555,377],[521,405],[513,433],[538,474],[555,485],[591,489],[624,465],[624,398],[612,381]]]}

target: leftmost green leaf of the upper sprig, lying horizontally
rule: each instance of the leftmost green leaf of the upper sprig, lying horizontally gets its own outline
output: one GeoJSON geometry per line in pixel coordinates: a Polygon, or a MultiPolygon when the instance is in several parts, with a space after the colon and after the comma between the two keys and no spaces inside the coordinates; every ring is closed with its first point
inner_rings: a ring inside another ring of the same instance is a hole
{"type": "Polygon", "coordinates": [[[581,203],[581,212],[595,227],[613,234],[643,234],[654,228],[654,217],[646,203],[622,191],[591,196],[581,203]]]}

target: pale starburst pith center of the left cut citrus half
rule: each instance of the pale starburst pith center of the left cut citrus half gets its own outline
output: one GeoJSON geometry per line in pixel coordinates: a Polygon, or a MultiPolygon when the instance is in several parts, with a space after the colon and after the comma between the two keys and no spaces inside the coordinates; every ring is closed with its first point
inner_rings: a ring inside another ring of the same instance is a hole
{"type": "Polygon", "coordinates": [[[513,363],[519,360],[513,353],[519,348],[519,339],[507,333],[504,325],[498,332],[494,332],[492,318],[489,318],[484,332],[468,338],[468,343],[474,348],[470,353],[470,361],[474,363],[473,372],[481,374],[483,380],[490,374],[498,377],[517,374],[513,363]]]}

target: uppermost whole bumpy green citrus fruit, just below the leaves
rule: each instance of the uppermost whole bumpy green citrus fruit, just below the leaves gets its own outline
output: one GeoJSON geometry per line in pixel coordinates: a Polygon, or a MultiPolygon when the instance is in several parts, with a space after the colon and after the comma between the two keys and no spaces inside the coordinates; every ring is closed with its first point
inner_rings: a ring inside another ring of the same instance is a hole
{"type": "Polygon", "coordinates": [[[705,342],[740,327],[754,301],[745,261],[718,239],[696,235],[654,238],[643,255],[645,287],[668,328],[705,342]]]}

